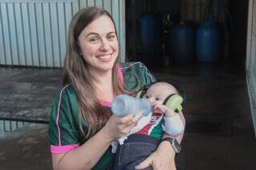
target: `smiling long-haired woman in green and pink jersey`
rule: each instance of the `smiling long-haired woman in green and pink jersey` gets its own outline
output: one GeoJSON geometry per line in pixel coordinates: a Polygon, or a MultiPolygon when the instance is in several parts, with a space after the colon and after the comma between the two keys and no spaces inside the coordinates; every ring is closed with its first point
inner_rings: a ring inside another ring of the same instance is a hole
{"type": "MultiPolygon", "coordinates": [[[[118,38],[106,10],[87,7],[70,22],[64,87],[50,115],[54,169],[110,169],[110,144],[126,135],[140,117],[116,117],[110,101],[154,80],[142,63],[118,63],[118,38]]],[[[182,136],[179,136],[179,140],[182,136]]],[[[137,168],[174,169],[174,150],[162,142],[137,168]],[[169,155],[169,156],[166,156],[169,155]]]]}

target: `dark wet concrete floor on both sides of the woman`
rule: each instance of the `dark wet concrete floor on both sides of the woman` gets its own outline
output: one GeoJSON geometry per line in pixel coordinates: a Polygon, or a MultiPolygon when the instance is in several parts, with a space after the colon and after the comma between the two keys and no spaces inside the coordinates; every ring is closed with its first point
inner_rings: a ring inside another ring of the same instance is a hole
{"type": "MultiPolygon", "coordinates": [[[[227,64],[149,68],[160,80],[178,82],[186,94],[186,132],[176,157],[178,169],[255,169],[256,142],[242,68],[227,64]]],[[[61,77],[60,69],[1,68],[0,118],[46,123],[61,77]]],[[[51,169],[46,124],[22,128],[16,124],[12,129],[9,121],[3,124],[1,170],[51,169]]]]}

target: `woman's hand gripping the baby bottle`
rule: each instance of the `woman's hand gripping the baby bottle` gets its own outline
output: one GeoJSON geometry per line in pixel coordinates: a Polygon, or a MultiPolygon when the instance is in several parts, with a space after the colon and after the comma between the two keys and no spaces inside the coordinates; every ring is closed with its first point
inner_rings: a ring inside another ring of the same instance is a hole
{"type": "Polygon", "coordinates": [[[126,117],[112,115],[102,130],[106,136],[110,137],[110,140],[115,140],[121,136],[126,136],[141,117],[142,113],[136,114],[135,117],[133,115],[126,117]]]}

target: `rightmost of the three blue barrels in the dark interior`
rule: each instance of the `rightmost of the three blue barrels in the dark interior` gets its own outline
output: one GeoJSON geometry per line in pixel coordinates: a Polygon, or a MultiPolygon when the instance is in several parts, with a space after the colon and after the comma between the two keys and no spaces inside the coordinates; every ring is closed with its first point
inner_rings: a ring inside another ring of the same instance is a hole
{"type": "Polygon", "coordinates": [[[196,56],[198,61],[217,61],[221,53],[220,32],[220,27],[213,22],[202,22],[198,26],[196,38],[196,56]]]}

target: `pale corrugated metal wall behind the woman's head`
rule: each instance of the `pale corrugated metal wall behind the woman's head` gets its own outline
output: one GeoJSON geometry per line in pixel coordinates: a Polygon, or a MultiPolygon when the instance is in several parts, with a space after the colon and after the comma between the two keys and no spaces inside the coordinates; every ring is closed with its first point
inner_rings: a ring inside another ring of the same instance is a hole
{"type": "Polygon", "coordinates": [[[85,6],[103,7],[116,22],[125,51],[125,1],[0,1],[0,65],[62,67],[72,16],[85,6]]]}

